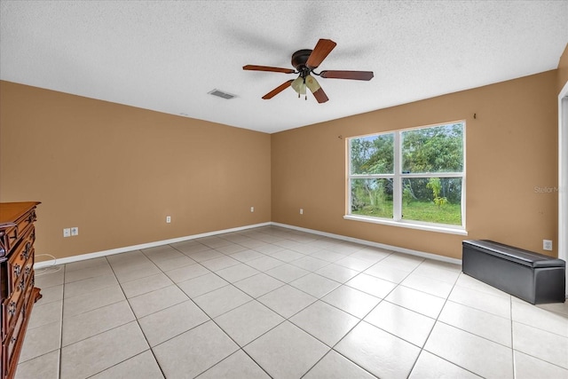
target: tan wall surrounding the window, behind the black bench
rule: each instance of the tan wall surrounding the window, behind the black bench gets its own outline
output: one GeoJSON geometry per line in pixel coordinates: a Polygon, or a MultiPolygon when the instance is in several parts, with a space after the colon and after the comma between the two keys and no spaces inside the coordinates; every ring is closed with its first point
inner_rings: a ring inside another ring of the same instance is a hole
{"type": "Polygon", "coordinates": [[[553,70],[272,134],[272,221],[446,257],[465,239],[557,256],[542,250],[557,241],[557,193],[535,191],[557,185],[556,83],[553,70]],[[462,119],[467,237],[343,219],[345,138],[462,119]]]}

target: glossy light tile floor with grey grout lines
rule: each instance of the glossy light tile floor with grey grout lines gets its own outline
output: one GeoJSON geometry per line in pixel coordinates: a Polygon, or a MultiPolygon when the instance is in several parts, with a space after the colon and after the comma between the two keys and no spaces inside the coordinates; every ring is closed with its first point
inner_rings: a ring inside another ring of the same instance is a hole
{"type": "Polygon", "coordinates": [[[568,304],[266,226],[38,272],[17,378],[568,378],[568,304]]]}

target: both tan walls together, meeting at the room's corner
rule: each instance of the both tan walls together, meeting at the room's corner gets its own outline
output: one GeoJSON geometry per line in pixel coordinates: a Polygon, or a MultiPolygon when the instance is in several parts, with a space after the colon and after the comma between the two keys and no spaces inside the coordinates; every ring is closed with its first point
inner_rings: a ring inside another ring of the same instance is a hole
{"type": "Polygon", "coordinates": [[[557,241],[557,193],[534,188],[557,184],[567,56],[540,75],[272,136],[0,82],[0,201],[42,201],[37,253],[59,258],[271,220],[446,257],[464,239],[556,256],[541,248],[557,241]],[[461,119],[467,237],[343,219],[345,138],[461,119]],[[79,236],[64,239],[71,226],[79,236]]]}

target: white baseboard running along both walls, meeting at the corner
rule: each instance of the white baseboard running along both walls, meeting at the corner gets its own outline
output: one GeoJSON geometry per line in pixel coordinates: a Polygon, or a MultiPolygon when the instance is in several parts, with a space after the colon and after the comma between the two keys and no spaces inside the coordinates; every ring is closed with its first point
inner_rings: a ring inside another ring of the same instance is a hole
{"type": "Polygon", "coordinates": [[[156,246],[162,246],[162,245],[168,245],[170,243],[195,240],[195,239],[198,239],[198,238],[210,237],[210,236],[217,235],[217,234],[241,232],[243,230],[254,229],[254,228],[257,228],[257,227],[260,227],[260,226],[267,226],[267,225],[280,226],[280,227],[283,227],[283,228],[292,229],[292,230],[296,230],[296,231],[300,231],[300,232],[318,234],[318,235],[322,235],[324,237],[335,238],[336,240],[355,242],[355,243],[360,243],[361,245],[367,245],[367,246],[371,246],[371,247],[374,247],[374,248],[395,251],[395,252],[398,252],[398,253],[404,253],[404,254],[408,254],[408,255],[416,256],[416,257],[429,258],[429,259],[433,259],[433,260],[437,260],[437,261],[441,261],[441,262],[447,262],[447,263],[451,263],[451,264],[455,264],[455,265],[461,265],[461,259],[438,256],[436,254],[430,254],[430,253],[425,253],[425,252],[417,251],[417,250],[399,248],[397,246],[385,245],[383,243],[378,243],[378,242],[359,240],[358,238],[347,237],[347,236],[344,236],[344,235],[341,235],[341,234],[326,233],[326,232],[320,232],[318,230],[307,229],[307,228],[294,226],[294,225],[286,225],[286,224],[268,222],[268,223],[262,223],[262,224],[240,226],[240,227],[236,227],[236,228],[232,228],[232,229],[218,230],[218,231],[215,231],[215,232],[187,235],[185,237],[173,238],[173,239],[170,239],[170,240],[162,240],[162,241],[142,243],[140,245],[126,246],[126,247],[123,247],[123,248],[97,251],[97,252],[94,252],[94,253],[82,254],[80,256],[51,259],[51,260],[48,260],[48,261],[37,262],[34,265],[34,269],[37,270],[37,269],[41,269],[41,268],[44,268],[44,267],[50,267],[52,265],[65,265],[65,264],[84,261],[84,260],[92,259],[92,258],[112,256],[114,254],[125,253],[125,252],[133,251],[133,250],[150,249],[150,248],[155,248],[156,246]]]}

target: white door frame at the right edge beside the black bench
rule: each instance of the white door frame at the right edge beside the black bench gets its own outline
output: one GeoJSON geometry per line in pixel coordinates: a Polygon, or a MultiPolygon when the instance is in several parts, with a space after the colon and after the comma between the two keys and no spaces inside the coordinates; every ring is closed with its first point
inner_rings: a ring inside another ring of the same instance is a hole
{"type": "MultiPolygon", "coordinates": [[[[558,94],[558,257],[568,262],[568,83],[558,94]]],[[[568,280],[566,280],[568,298],[568,280]]]]}

